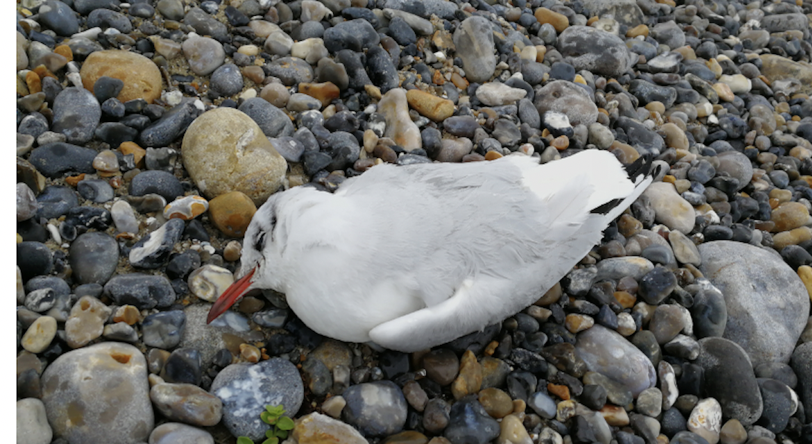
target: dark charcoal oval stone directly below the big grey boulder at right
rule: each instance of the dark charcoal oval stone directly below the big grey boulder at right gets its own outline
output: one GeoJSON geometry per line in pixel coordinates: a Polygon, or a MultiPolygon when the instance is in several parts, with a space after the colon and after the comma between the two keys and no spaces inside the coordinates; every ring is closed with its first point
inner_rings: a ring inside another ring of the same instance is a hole
{"type": "Polygon", "coordinates": [[[705,372],[705,394],[719,401],[726,418],[743,425],[758,420],[764,407],[761,390],[743,348],[725,338],[700,339],[695,363],[705,372]]]}

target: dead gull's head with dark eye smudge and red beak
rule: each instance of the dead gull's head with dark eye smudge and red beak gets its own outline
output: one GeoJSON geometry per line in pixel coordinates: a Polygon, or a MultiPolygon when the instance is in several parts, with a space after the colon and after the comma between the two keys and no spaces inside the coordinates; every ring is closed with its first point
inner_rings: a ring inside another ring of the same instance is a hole
{"type": "Polygon", "coordinates": [[[214,302],[209,310],[209,316],[206,318],[207,323],[225,313],[249,290],[276,287],[275,284],[278,282],[275,282],[276,279],[274,279],[274,273],[270,267],[281,261],[285,243],[285,235],[279,227],[282,222],[277,220],[279,210],[286,200],[283,194],[270,196],[266,203],[257,210],[257,213],[254,213],[243,239],[240,278],[226,291],[223,291],[218,300],[214,302]]]}

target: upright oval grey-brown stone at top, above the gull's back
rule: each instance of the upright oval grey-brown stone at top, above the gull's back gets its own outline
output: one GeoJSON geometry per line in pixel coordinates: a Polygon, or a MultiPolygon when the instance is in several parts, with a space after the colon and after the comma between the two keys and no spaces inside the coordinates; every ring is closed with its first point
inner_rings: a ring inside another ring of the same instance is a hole
{"type": "Polygon", "coordinates": [[[488,19],[477,16],[464,19],[454,32],[454,45],[469,82],[481,83],[494,75],[494,33],[488,19]]]}

